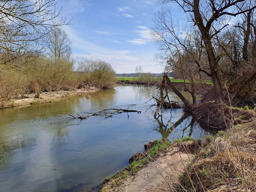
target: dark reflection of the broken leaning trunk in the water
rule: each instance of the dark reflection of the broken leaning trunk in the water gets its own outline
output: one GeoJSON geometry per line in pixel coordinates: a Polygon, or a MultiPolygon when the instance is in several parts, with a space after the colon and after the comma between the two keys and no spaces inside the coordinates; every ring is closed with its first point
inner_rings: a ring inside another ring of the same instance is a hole
{"type": "MultiPolygon", "coordinates": [[[[170,126],[170,124],[169,124],[171,122],[171,120],[168,120],[166,123],[164,123],[162,117],[161,117],[161,119],[155,118],[159,124],[159,129],[156,129],[156,131],[161,133],[162,139],[166,139],[167,137],[169,137],[169,134],[171,133],[171,131],[173,131],[173,129],[175,129],[179,125],[181,125],[185,120],[188,120],[189,116],[190,115],[188,113],[184,113],[183,116],[177,122],[175,122],[172,126],[170,126]],[[168,129],[168,127],[170,127],[170,128],[168,129]]],[[[184,137],[184,132],[187,130],[188,127],[190,127],[190,132],[189,132],[188,136],[192,135],[194,124],[195,124],[195,119],[192,118],[189,125],[183,128],[182,138],[184,137]]]]}

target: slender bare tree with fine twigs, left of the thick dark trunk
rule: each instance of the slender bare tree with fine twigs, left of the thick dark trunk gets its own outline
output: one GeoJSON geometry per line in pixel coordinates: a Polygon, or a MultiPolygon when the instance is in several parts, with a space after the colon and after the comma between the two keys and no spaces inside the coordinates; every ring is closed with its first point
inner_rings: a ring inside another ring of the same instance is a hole
{"type": "Polygon", "coordinates": [[[203,67],[205,50],[198,29],[192,27],[191,31],[181,30],[173,22],[170,10],[163,7],[156,16],[153,36],[159,45],[157,57],[166,63],[165,71],[175,72],[183,79],[183,88],[192,95],[195,105],[195,82],[206,80],[200,73],[206,67],[203,67]],[[190,83],[187,84],[186,80],[190,83]]]}

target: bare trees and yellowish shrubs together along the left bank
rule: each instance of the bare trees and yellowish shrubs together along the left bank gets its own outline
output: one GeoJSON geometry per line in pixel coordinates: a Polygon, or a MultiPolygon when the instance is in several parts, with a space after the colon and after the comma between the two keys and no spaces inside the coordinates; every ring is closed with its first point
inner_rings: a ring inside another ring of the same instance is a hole
{"type": "Polygon", "coordinates": [[[74,60],[69,24],[55,0],[0,2],[0,104],[26,93],[72,90],[85,84],[111,88],[115,72],[102,60],[74,60]]]}

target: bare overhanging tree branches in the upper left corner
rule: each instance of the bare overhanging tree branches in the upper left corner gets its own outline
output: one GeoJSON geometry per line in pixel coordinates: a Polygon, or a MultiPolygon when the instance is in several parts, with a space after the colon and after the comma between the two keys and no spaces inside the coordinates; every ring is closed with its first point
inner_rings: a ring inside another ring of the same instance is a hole
{"type": "Polygon", "coordinates": [[[19,70],[11,60],[42,52],[51,28],[68,23],[55,11],[55,4],[55,0],[0,1],[0,53],[6,54],[0,64],[19,70]],[[57,22],[50,24],[53,20],[57,22]]]}

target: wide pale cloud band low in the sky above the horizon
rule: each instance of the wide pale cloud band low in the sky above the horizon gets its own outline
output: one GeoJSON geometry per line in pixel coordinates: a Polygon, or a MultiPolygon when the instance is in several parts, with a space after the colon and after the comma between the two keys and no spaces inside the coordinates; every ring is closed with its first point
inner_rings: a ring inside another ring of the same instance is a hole
{"type": "MultiPolygon", "coordinates": [[[[69,25],[64,26],[64,29],[73,42],[72,47],[79,50],[80,54],[73,54],[73,58],[78,60],[85,57],[87,59],[101,59],[109,62],[117,73],[132,73],[135,72],[135,67],[139,64],[145,71],[162,72],[163,68],[154,60],[154,52],[145,51],[143,53],[133,50],[113,50],[98,46],[85,39],[83,33],[73,30],[69,25]]],[[[133,39],[141,41],[141,39],[133,39]]],[[[140,42],[140,43],[141,43],[140,42]]],[[[146,44],[145,42],[143,44],[146,44]]]]}

